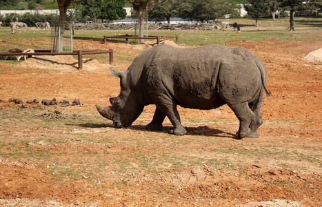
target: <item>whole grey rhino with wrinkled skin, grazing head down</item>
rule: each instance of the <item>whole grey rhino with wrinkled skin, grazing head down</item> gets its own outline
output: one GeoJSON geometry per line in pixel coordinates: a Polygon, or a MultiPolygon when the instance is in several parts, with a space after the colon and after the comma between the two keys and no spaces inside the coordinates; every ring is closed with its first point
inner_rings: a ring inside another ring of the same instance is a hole
{"type": "Polygon", "coordinates": [[[208,45],[175,48],[159,45],[141,52],[128,70],[110,68],[120,78],[121,92],[112,106],[97,105],[99,113],[117,128],[130,126],[144,106],[157,106],[150,130],[162,130],[167,116],[174,135],[184,135],[177,105],[210,110],[228,104],[240,121],[237,138],[259,137],[261,102],[267,72],[245,48],[208,45]]]}

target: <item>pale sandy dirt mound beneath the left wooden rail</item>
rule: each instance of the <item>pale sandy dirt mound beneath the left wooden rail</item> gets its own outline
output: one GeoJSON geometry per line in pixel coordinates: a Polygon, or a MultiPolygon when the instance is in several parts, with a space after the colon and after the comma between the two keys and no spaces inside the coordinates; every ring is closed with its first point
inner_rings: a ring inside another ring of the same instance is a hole
{"type": "MultiPolygon", "coordinates": [[[[29,58],[19,63],[19,66],[54,70],[75,70],[78,69],[78,61],[71,55],[44,55],[29,58]]],[[[106,68],[106,66],[103,66],[96,59],[83,59],[83,70],[100,71],[102,68],[106,68]]]]}

